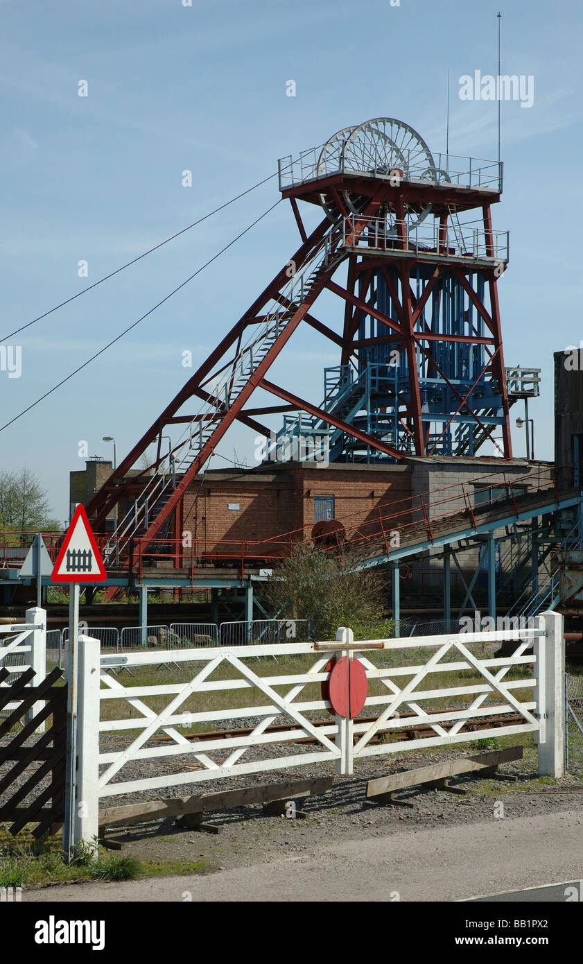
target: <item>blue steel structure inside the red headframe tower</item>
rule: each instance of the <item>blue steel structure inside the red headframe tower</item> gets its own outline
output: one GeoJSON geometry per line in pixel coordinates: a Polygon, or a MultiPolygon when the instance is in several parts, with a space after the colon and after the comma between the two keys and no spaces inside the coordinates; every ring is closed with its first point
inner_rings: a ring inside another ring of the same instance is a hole
{"type": "MultiPolygon", "coordinates": [[[[393,290],[398,287],[396,268],[393,290]]],[[[428,274],[423,264],[411,271],[411,286],[419,300],[428,274]]],[[[484,302],[484,273],[473,273],[472,286],[480,303],[484,302]]],[[[368,298],[384,316],[398,322],[398,306],[388,289],[384,272],[378,269],[369,284],[359,282],[359,297],[368,298]]],[[[430,354],[415,354],[416,378],[421,401],[421,419],[426,429],[427,451],[432,455],[473,456],[482,442],[499,426],[506,424],[503,395],[491,377],[486,345],[461,339],[468,330],[485,337],[484,319],[465,297],[464,286],[453,272],[442,271],[428,300],[423,323],[433,335],[430,354]],[[443,340],[439,340],[439,335],[443,340]],[[445,378],[443,377],[445,376],[445,378]],[[460,411],[464,397],[471,414],[460,411]],[[476,421],[479,418],[479,423],[476,421]],[[481,424],[480,424],[481,423],[481,424]]],[[[400,452],[413,453],[414,439],[404,422],[403,413],[411,408],[410,355],[401,350],[401,336],[385,335],[386,325],[364,310],[358,312],[356,337],[360,344],[358,361],[324,369],[324,401],[320,408],[381,438],[400,452]]],[[[509,392],[509,404],[515,399],[509,392]]],[[[394,463],[397,460],[370,444],[359,441],[315,415],[286,415],[278,441],[296,436],[328,436],[331,462],[394,463]]]]}

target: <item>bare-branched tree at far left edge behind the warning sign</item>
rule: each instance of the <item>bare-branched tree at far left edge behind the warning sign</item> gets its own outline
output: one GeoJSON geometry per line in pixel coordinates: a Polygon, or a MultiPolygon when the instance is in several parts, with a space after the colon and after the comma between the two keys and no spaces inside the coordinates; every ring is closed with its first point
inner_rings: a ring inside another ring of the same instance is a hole
{"type": "Polygon", "coordinates": [[[48,499],[30,469],[0,471],[0,526],[7,531],[59,531],[50,518],[48,499]]]}

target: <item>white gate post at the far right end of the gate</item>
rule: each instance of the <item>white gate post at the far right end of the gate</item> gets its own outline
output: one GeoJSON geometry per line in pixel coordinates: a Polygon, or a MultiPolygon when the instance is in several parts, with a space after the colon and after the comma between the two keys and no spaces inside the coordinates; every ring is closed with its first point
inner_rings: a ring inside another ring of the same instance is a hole
{"type": "Polygon", "coordinates": [[[565,774],[565,637],[563,616],[543,612],[543,636],[535,637],[535,689],[539,732],[539,773],[565,774]]]}

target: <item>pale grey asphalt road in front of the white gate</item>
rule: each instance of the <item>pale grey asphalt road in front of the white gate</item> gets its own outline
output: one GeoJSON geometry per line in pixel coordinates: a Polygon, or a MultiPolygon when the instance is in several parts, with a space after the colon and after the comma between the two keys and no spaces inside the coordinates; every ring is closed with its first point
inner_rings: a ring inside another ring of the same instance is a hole
{"type": "Polygon", "coordinates": [[[582,877],[583,815],[566,810],[326,841],[309,854],[210,874],[40,888],[23,900],[516,900],[506,894],[582,877]]]}

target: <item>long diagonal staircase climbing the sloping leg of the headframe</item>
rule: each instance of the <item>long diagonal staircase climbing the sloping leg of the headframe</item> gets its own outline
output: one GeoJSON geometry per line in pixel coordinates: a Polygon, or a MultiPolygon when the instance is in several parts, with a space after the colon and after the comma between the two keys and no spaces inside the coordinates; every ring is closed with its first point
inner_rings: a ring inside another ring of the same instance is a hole
{"type": "MultiPolygon", "coordinates": [[[[140,539],[144,550],[154,538],[160,548],[160,539],[163,540],[165,535],[170,537],[173,510],[234,418],[239,418],[257,431],[264,431],[264,426],[242,413],[243,406],[252,391],[261,387],[264,375],[281,347],[308,315],[312,302],[344,260],[346,230],[342,229],[342,220],[339,218],[331,223],[325,219],[312,232],[263,296],[225,336],[219,349],[199,368],[89,503],[87,508],[88,513],[93,515],[93,527],[99,530],[118,500],[119,486],[124,481],[125,472],[131,469],[134,456],[143,453],[148,444],[158,440],[158,466],[151,475],[147,475],[146,469],[134,475],[134,486],[137,487],[142,479],[142,488],[105,546],[106,565],[125,565],[131,540],[140,539]],[[296,267],[291,277],[290,265],[296,267]],[[259,315],[260,309],[264,309],[265,313],[259,315]],[[247,338],[245,335],[248,335],[247,338]],[[219,354],[223,348],[234,349],[234,354],[217,369],[216,362],[225,356],[225,352],[222,356],[219,354]],[[202,401],[198,413],[178,415],[184,402],[192,397],[202,401]],[[162,432],[176,423],[184,423],[185,427],[179,439],[173,443],[171,452],[162,460],[159,457],[162,432]]],[[[355,226],[354,229],[358,232],[361,228],[355,226]]],[[[308,320],[312,324],[315,321],[308,320]]],[[[314,327],[317,325],[316,322],[314,327]]],[[[381,447],[393,454],[389,446],[381,447]]]]}

